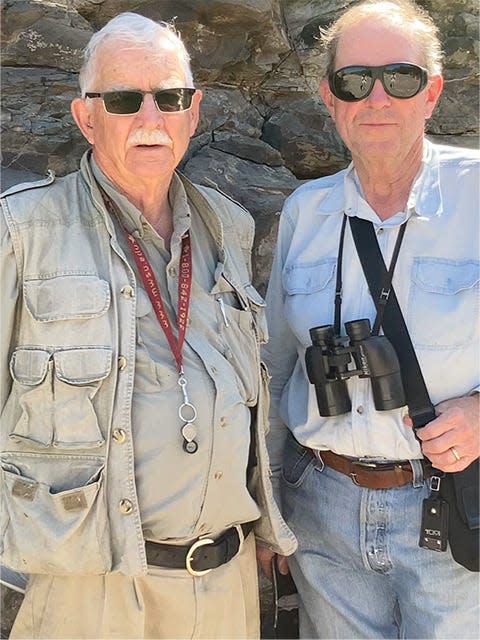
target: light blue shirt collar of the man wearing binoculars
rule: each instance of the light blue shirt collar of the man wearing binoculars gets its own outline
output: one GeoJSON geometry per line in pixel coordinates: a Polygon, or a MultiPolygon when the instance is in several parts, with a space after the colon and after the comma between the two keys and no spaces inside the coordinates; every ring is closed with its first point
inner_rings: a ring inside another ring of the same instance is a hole
{"type": "MultiPolygon", "coordinates": [[[[318,213],[330,215],[345,211],[347,215],[358,215],[378,224],[378,216],[362,197],[361,186],[358,183],[353,162],[341,173],[343,173],[343,179],[338,180],[328,191],[320,204],[318,213]]],[[[407,216],[432,218],[440,216],[442,212],[438,153],[435,145],[425,139],[422,164],[408,198],[407,216]]],[[[399,212],[390,220],[395,220],[398,224],[397,216],[401,213],[399,212]]],[[[401,217],[405,219],[405,215],[401,217]]],[[[385,222],[383,226],[385,226],[385,222]]]]}

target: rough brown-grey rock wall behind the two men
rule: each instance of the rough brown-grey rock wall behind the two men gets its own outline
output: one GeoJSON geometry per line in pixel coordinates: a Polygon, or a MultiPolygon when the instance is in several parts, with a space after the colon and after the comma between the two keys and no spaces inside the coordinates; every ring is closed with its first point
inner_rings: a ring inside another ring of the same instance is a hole
{"type": "MultiPolygon", "coordinates": [[[[172,20],[204,93],[181,168],[214,181],[256,220],[255,282],[265,291],[278,213],[303,180],[337,171],[348,153],[317,91],[318,28],[348,0],[3,0],[2,187],[48,168],[74,170],[87,144],[70,116],[81,51],[121,11],[172,20]]],[[[445,89],[428,133],[478,146],[478,3],[420,2],[440,27],[445,89]]],[[[21,599],[2,591],[2,637],[21,599]]],[[[262,602],[269,590],[262,581],[262,602]]],[[[268,616],[264,614],[264,622],[268,616]]],[[[268,625],[267,625],[268,626],[268,625]]],[[[264,637],[270,637],[264,624],[264,637]]]]}

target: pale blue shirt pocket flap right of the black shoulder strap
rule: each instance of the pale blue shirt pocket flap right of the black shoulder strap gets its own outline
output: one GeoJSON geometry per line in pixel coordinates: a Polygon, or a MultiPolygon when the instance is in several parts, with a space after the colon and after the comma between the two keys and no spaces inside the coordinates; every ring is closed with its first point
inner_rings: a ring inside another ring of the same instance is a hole
{"type": "Polygon", "coordinates": [[[419,258],[413,266],[412,279],[424,291],[455,295],[480,280],[479,266],[476,260],[419,258]]]}

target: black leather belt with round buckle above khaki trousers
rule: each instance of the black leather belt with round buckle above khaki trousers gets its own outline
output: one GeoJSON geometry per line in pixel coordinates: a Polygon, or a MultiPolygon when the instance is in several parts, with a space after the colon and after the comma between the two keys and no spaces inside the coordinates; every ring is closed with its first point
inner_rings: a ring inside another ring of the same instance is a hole
{"type": "MultiPolygon", "coordinates": [[[[246,538],[253,529],[253,522],[239,525],[246,538]]],[[[167,569],[186,569],[192,576],[201,576],[229,562],[240,549],[238,527],[227,529],[219,538],[198,538],[190,545],[159,544],[147,540],[147,563],[167,569]]]]}

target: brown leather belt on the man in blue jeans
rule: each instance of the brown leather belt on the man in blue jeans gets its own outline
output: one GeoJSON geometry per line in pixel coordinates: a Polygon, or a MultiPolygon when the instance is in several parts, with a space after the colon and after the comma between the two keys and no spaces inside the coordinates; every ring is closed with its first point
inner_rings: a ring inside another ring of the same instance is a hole
{"type": "MultiPolygon", "coordinates": [[[[413,470],[408,460],[381,463],[352,460],[333,451],[314,453],[327,467],[350,476],[354,484],[367,489],[394,489],[413,481],[413,470]]],[[[428,477],[428,468],[426,465],[423,465],[423,468],[424,477],[428,477]]]]}

